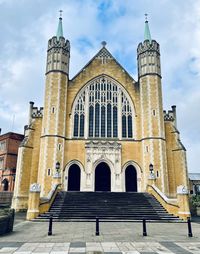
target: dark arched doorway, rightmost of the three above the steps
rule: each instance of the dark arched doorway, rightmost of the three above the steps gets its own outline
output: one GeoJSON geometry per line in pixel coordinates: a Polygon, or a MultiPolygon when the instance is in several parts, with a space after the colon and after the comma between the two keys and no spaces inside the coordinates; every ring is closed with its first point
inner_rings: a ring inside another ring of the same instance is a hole
{"type": "Polygon", "coordinates": [[[126,191],[137,191],[137,171],[134,166],[129,165],[125,170],[126,191]]]}

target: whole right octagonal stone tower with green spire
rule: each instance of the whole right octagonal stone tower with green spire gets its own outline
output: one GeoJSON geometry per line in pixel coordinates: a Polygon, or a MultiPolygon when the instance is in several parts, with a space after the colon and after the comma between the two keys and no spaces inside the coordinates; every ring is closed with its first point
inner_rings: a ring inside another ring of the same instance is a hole
{"type": "Polygon", "coordinates": [[[137,48],[137,62],[144,184],[148,183],[149,166],[153,165],[157,187],[168,194],[160,47],[155,40],[151,39],[147,15],[144,41],[139,43],[137,48]]]}

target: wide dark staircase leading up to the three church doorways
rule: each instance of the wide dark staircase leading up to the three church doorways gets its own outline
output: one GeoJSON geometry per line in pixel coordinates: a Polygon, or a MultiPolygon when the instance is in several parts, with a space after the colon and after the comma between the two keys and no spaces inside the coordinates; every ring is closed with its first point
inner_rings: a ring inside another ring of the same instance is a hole
{"type": "Polygon", "coordinates": [[[52,214],[55,221],[100,220],[164,220],[177,221],[148,193],[136,192],[59,192],[47,213],[37,221],[47,220],[52,214]]]}

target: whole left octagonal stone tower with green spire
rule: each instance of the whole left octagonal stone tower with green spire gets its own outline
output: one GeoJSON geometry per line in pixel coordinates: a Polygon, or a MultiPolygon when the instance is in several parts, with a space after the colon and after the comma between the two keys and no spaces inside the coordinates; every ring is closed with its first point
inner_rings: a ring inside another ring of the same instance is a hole
{"type": "Polygon", "coordinates": [[[38,183],[46,196],[63,168],[70,43],[63,36],[60,14],[56,36],[48,41],[44,114],[40,139],[38,183]],[[58,167],[59,166],[59,167],[58,167]]]}

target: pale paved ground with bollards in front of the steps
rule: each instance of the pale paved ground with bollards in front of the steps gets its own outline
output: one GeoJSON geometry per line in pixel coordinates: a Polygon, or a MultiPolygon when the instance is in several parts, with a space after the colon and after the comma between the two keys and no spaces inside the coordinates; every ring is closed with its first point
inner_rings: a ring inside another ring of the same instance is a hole
{"type": "Polygon", "coordinates": [[[48,236],[47,222],[28,222],[16,216],[13,233],[0,237],[0,254],[16,253],[181,253],[200,254],[200,222],[192,223],[193,237],[187,236],[185,223],[148,223],[147,237],[141,223],[100,222],[100,236],[94,222],[55,222],[48,236]]]}

